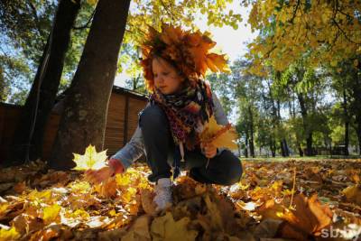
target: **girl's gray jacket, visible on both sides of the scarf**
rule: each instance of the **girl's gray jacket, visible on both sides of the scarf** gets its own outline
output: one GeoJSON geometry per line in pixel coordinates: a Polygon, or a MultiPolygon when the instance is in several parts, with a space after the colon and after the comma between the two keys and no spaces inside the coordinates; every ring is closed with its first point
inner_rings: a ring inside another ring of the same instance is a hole
{"type": "MultiPolygon", "coordinates": [[[[213,113],[216,118],[218,125],[227,125],[228,120],[225,114],[223,107],[220,105],[219,99],[212,92],[212,99],[214,103],[213,113]]],[[[148,104],[146,107],[148,107],[148,104]]],[[[139,125],[136,127],[135,132],[131,138],[131,140],[125,144],[125,146],[120,149],[112,158],[119,160],[127,169],[133,162],[138,160],[142,154],[144,153],[144,145],[143,145],[143,135],[142,130],[139,125]]],[[[222,150],[218,150],[218,153],[221,153],[222,150]]]]}

